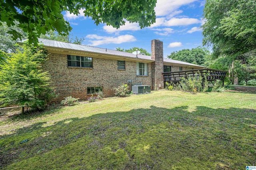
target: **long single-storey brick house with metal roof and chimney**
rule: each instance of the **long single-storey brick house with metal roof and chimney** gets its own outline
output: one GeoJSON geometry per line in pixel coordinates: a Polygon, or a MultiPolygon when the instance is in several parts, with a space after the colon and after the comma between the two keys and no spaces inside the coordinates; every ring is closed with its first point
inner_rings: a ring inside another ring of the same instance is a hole
{"type": "Polygon", "coordinates": [[[204,68],[182,61],[164,59],[163,42],[151,41],[151,56],[39,39],[48,50],[43,71],[52,77],[52,86],[59,93],[58,101],[72,96],[82,100],[101,89],[106,97],[114,96],[113,87],[132,83],[164,88],[163,72],[204,68]]]}

